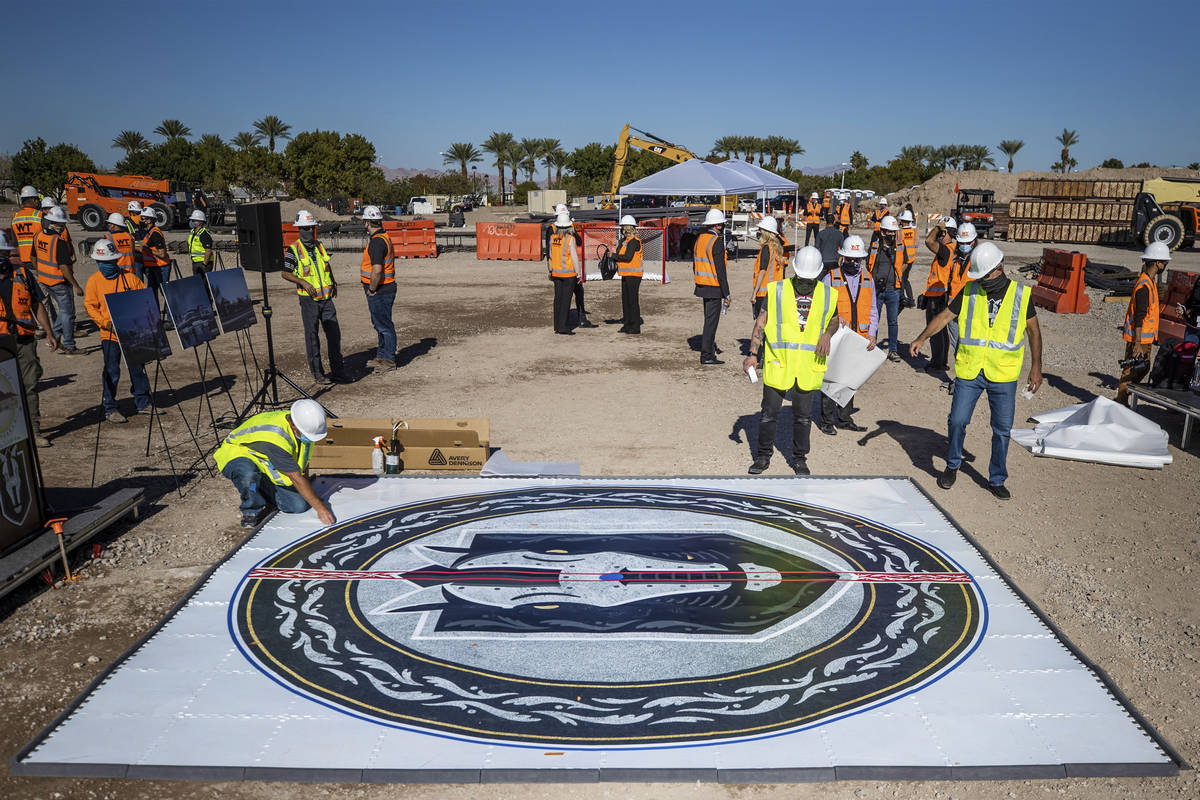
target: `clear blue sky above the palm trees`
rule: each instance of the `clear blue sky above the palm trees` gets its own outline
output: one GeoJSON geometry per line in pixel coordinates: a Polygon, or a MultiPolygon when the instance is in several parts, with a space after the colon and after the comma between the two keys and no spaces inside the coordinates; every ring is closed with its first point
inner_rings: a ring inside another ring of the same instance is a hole
{"type": "Polygon", "coordinates": [[[124,128],[156,140],[176,118],[228,139],[275,114],[293,132],[362,133],[382,163],[413,168],[496,130],[572,149],[626,121],[698,154],[724,134],[788,136],[811,167],[1024,139],[1016,169],[1046,169],[1063,127],[1080,168],[1200,160],[1183,1],[60,0],[53,24],[46,8],[5,10],[23,34],[8,37],[4,152],[41,136],[112,167],[124,128]]]}

